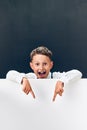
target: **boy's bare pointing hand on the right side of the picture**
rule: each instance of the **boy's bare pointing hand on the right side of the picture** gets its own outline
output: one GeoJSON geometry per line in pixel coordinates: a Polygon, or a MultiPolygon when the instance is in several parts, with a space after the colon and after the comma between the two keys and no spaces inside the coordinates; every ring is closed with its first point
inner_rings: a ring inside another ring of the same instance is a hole
{"type": "Polygon", "coordinates": [[[63,87],[64,87],[64,83],[61,81],[57,81],[56,86],[55,86],[53,101],[55,101],[57,94],[62,96],[62,93],[64,92],[63,87]]]}

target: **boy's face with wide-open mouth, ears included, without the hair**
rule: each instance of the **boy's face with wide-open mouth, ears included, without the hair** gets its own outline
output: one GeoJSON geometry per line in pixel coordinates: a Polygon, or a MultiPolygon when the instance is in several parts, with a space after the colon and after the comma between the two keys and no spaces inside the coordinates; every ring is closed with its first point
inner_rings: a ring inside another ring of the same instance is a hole
{"type": "Polygon", "coordinates": [[[36,54],[33,56],[30,67],[36,74],[37,78],[47,78],[50,70],[53,67],[53,62],[48,56],[36,54]]]}

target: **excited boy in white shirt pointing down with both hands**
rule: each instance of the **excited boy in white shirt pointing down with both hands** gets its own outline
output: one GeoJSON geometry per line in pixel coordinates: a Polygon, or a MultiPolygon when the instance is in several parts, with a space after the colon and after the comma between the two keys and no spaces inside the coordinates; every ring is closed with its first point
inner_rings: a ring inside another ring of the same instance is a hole
{"type": "Polygon", "coordinates": [[[56,78],[58,79],[54,95],[53,101],[55,101],[57,94],[62,96],[64,92],[64,84],[66,82],[74,81],[80,79],[82,77],[82,73],[78,70],[71,70],[68,72],[53,72],[51,73],[50,70],[53,67],[52,61],[52,52],[44,46],[40,46],[32,50],[30,53],[30,67],[34,73],[19,73],[15,70],[11,70],[7,73],[6,78],[13,80],[15,82],[22,84],[22,90],[28,94],[31,93],[33,98],[35,98],[35,94],[31,88],[29,83],[29,79],[44,79],[44,78],[56,78]]]}

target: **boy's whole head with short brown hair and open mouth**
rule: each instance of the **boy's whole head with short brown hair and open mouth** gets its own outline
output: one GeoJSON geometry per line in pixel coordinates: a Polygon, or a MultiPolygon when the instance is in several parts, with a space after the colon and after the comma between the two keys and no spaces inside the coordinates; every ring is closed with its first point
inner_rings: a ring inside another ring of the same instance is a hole
{"type": "Polygon", "coordinates": [[[37,78],[47,78],[53,67],[52,52],[47,47],[37,47],[30,53],[30,60],[30,67],[37,78]]]}

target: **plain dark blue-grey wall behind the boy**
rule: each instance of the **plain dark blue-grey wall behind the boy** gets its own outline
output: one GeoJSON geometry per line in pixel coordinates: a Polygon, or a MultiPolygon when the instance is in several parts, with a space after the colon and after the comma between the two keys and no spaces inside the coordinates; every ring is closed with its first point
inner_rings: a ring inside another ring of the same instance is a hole
{"type": "Polygon", "coordinates": [[[87,0],[0,0],[0,78],[31,71],[29,53],[39,45],[53,51],[52,71],[87,77],[87,0]]]}

